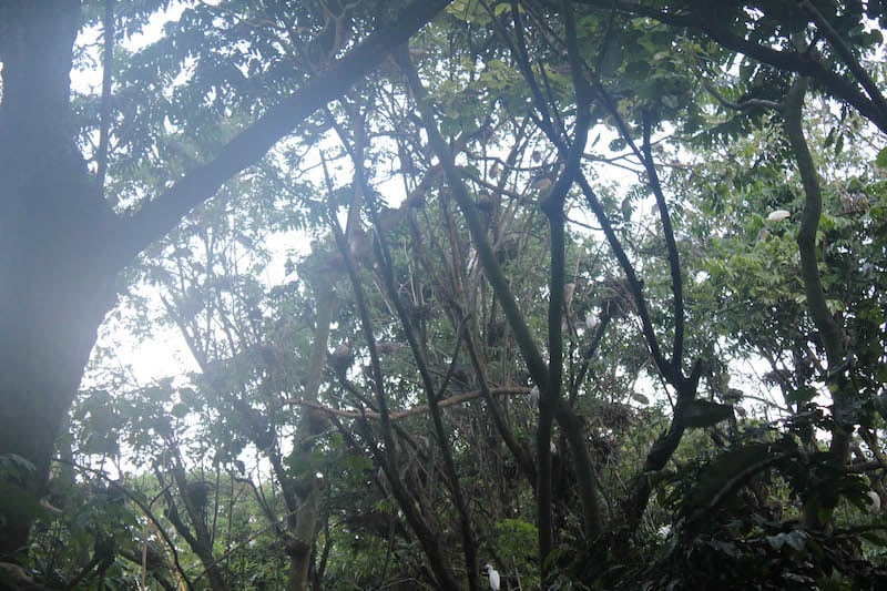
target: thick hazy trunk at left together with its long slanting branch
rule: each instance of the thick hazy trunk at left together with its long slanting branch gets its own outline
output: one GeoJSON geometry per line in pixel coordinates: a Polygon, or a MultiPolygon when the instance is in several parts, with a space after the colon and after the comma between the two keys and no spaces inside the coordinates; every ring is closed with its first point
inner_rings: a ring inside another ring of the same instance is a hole
{"type": "Polygon", "coordinates": [[[3,479],[3,498],[12,505],[3,509],[0,554],[12,557],[24,544],[33,510],[22,507],[22,495],[33,499],[42,493],[54,438],[95,329],[114,305],[116,274],[226,180],[256,162],[294,123],[369,72],[446,3],[407,7],[359,50],[353,49],[244,129],[214,160],[125,217],[114,213],[75,144],[69,77],[80,2],[3,4],[0,452],[23,458],[32,470],[3,479]]]}

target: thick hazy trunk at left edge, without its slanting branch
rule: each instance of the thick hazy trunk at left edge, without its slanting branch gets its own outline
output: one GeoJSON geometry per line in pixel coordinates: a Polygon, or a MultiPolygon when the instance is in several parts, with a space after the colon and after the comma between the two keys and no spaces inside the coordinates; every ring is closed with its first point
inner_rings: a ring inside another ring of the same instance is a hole
{"type": "Polygon", "coordinates": [[[0,8],[0,455],[34,468],[0,472],[3,557],[27,541],[55,435],[114,303],[99,242],[113,217],[69,119],[79,10],[73,1],[0,8]]]}

